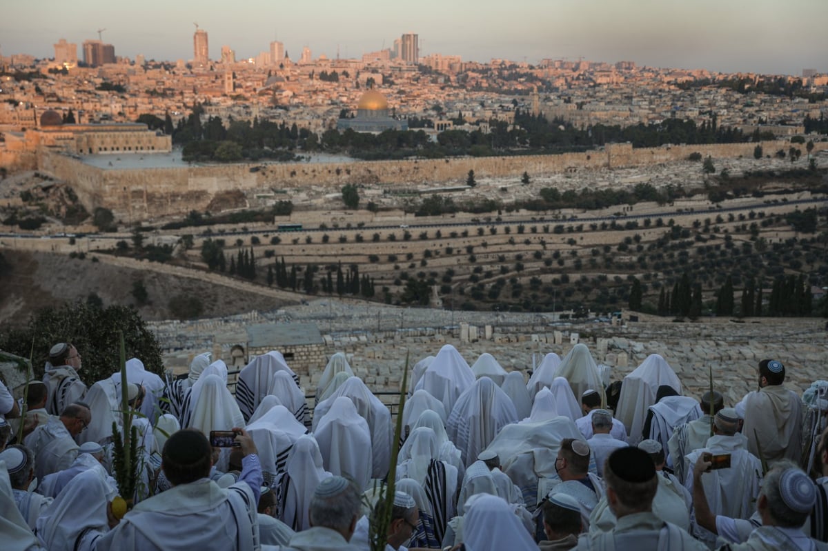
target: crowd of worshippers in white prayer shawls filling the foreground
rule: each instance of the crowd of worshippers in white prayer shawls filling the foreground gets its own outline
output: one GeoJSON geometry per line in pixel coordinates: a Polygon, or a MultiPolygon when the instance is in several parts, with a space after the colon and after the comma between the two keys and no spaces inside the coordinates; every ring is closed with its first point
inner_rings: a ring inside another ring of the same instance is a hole
{"type": "Polygon", "coordinates": [[[0,385],[3,551],[365,551],[380,519],[389,551],[828,549],[828,382],[799,394],[778,360],[725,404],[712,383],[682,395],[658,355],[605,386],[583,344],[528,381],[446,345],[412,367],[397,439],[341,352],[310,400],[279,352],[244,367],[234,395],[209,353],[166,379],[132,358],[125,514],[113,371],[87,387],[59,343],[21,401],[0,385]]]}

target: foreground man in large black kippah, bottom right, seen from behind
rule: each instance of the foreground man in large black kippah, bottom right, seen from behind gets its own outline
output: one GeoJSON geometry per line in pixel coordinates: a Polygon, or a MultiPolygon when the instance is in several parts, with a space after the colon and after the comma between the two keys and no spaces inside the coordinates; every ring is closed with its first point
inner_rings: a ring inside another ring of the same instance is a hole
{"type": "Polygon", "coordinates": [[[705,551],[704,544],[652,513],[658,489],[656,467],[647,452],[615,450],[604,466],[607,502],[617,522],[609,532],[584,534],[576,549],[659,549],[705,551]]]}

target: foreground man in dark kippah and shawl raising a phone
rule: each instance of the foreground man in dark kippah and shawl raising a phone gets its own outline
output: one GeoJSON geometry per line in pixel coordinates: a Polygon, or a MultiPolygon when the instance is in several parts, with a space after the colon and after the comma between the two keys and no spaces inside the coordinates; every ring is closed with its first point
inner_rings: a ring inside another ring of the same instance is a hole
{"type": "Polygon", "coordinates": [[[166,441],[161,469],[174,486],[135,505],[97,542],[96,551],[259,549],[257,505],[262,486],[253,440],[233,428],[243,453],[238,482],[226,490],[208,478],[212,449],[204,434],[180,430],[166,441]]]}

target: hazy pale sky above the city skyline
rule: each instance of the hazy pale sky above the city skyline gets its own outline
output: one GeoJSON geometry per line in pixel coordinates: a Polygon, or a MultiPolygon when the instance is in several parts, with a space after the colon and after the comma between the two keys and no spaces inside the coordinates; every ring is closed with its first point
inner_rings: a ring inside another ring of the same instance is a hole
{"type": "MultiPolygon", "coordinates": [[[[0,0],[0,52],[53,57],[65,38],[116,55],[190,60],[194,22],[236,58],[285,43],[297,60],[359,57],[420,36],[421,55],[577,58],[725,72],[828,72],[828,0],[0,0]],[[129,7],[127,7],[127,5],[129,7]]],[[[80,55],[81,52],[79,52],[80,55]]]]}

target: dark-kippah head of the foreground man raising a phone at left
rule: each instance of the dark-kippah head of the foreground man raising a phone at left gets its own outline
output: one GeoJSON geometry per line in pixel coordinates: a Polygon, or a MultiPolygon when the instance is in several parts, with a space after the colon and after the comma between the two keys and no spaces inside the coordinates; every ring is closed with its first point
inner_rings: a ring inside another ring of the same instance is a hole
{"type": "Polygon", "coordinates": [[[209,477],[213,448],[204,434],[183,429],[171,434],[161,452],[161,469],[173,486],[209,477]]]}

